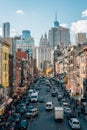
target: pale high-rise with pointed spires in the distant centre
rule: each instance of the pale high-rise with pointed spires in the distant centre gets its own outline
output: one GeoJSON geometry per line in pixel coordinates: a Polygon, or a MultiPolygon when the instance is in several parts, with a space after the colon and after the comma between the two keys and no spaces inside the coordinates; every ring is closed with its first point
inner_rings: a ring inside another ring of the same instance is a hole
{"type": "Polygon", "coordinates": [[[36,49],[37,67],[44,72],[52,65],[52,48],[48,44],[47,34],[41,36],[39,47],[36,49]]]}

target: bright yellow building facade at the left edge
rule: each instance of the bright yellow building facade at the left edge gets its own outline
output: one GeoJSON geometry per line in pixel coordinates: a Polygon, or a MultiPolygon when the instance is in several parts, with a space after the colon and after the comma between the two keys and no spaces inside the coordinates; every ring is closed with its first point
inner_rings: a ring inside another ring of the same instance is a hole
{"type": "Polygon", "coordinates": [[[5,41],[2,47],[2,85],[5,97],[9,93],[9,44],[5,41]]]}

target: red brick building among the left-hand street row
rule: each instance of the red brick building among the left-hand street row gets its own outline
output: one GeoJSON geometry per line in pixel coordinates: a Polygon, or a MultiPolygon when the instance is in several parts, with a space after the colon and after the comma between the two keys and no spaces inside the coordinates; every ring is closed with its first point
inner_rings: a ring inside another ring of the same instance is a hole
{"type": "Polygon", "coordinates": [[[27,52],[22,52],[21,49],[18,49],[16,52],[16,87],[23,85],[27,76],[27,65],[28,54],[27,52]]]}

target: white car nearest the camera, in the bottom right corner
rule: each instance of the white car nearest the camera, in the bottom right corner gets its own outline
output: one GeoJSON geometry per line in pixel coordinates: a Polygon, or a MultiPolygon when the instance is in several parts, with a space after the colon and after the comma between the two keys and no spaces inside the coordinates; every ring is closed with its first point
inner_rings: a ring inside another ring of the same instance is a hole
{"type": "Polygon", "coordinates": [[[70,118],[69,125],[72,129],[80,129],[80,123],[77,118],[70,118]]]}

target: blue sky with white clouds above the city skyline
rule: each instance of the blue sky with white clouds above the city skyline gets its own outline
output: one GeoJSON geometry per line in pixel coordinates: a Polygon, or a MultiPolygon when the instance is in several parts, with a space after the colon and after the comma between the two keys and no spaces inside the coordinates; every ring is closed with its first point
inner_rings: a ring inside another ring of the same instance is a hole
{"type": "Polygon", "coordinates": [[[87,33],[87,0],[0,0],[0,35],[2,24],[10,22],[11,36],[30,30],[38,46],[54,26],[56,12],[60,26],[70,29],[71,42],[75,33],[87,33]]]}

